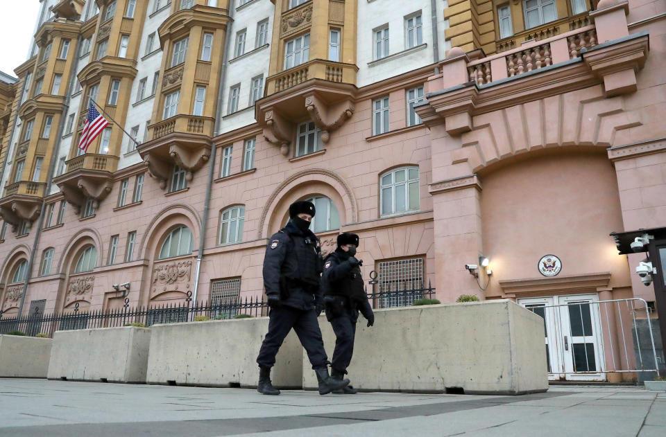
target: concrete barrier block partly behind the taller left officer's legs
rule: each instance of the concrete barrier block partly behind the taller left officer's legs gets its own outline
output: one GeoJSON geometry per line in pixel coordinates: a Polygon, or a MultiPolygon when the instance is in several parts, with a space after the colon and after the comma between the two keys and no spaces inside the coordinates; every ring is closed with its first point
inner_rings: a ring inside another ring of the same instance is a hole
{"type": "MultiPolygon", "coordinates": [[[[196,386],[257,386],[257,355],[268,317],[172,323],[151,327],[147,382],[196,386]]],[[[275,386],[302,386],[302,347],[292,331],[271,373],[275,386]]]]}

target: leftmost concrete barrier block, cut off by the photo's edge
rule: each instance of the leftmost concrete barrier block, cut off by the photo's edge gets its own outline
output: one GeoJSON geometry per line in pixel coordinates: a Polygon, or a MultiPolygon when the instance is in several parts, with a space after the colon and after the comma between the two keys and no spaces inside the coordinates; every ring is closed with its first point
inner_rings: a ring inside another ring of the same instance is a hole
{"type": "Polygon", "coordinates": [[[0,335],[0,377],[45,378],[53,339],[0,335]]]}

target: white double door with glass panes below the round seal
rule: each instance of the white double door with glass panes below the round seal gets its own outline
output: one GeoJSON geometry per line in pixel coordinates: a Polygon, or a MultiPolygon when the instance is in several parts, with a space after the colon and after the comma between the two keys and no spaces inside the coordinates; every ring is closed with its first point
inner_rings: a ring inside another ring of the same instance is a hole
{"type": "Polygon", "coordinates": [[[604,381],[596,294],[518,299],[544,319],[549,380],[604,381]]]}

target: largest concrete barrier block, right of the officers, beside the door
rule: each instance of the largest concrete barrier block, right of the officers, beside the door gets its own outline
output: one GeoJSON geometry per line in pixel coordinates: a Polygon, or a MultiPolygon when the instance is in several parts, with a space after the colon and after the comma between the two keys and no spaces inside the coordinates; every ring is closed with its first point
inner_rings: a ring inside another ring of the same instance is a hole
{"type": "MultiPolygon", "coordinates": [[[[335,335],[324,317],[319,323],[332,357],[335,335]]],[[[303,387],[314,389],[305,364],[303,387]]],[[[377,310],[371,328],[359,318],[348,372],[352,385],[368,391],[546,391],[543,319],[508,300],[377,310]]]]}

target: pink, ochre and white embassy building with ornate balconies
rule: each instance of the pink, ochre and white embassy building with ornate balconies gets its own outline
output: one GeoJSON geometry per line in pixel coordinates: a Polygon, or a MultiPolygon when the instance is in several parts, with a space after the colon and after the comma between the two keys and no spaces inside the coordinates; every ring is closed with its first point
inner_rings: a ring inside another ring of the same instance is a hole
{"type": "Polygon", "coordinates": [[[310,199],[372,287],[530,307],[554,378],[635,368],[654,285],[609,234],[666,226],[665,50],[658,0],[41,0],[0,76],[0,322],[260,298],[310,199]]]}

